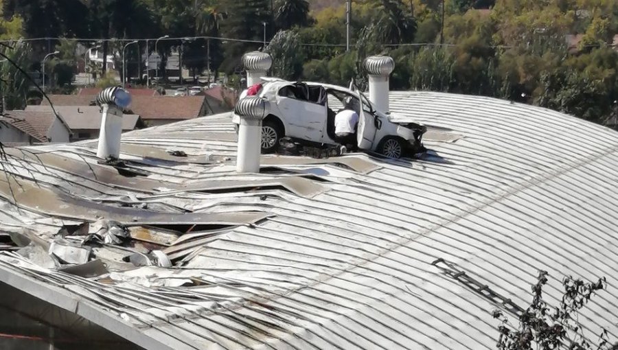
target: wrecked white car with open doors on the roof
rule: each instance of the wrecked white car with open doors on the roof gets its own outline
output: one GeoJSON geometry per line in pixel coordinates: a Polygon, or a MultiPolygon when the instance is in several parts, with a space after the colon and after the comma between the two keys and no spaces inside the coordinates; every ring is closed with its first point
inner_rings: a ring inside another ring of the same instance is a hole
{"type": "MultiPolygon", "coordinates": [[[[426,131],[419,124],[396,124],[389,115],[371,105],[363,93],[342,86],[315,82],[288,82],[262,78],[257,96],[271,103],[270,114],[262,122],[262,153],[273,152],[282,137],[314,143],[337,143],[334,117],[344,101],[358,113],[358,148],[378,152],[389,158],[424,151],[421,137],[426,131]]],[[[255,92],[255,91],[254,91],[255,92]]],[[[247,96],[243,91],[240,99],[247,96]]],[[[237,126],[240,117],[232,113],[237,126]]]]}

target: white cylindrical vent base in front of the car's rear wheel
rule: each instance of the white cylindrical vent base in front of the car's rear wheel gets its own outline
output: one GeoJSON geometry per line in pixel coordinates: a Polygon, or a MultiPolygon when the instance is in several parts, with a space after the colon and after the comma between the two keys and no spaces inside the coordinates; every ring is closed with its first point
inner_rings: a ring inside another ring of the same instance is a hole
{"type": "Polygon", "coordinates": [[[260,172],[260,154],[262,152],[262,120],[240,117],[238,126],[238,153],[236,172],[260,172]]]}

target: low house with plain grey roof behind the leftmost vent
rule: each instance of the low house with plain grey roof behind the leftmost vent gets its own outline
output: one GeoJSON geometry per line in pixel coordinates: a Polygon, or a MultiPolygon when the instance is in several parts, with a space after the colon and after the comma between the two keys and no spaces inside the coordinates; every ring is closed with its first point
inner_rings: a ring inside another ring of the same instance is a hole
{"type": "MultiPolygon", "coordinates": [[[[55,106],[56,112],[62,116],[73,131],[70,141],[96,139],[101,129],[101,108],[99,106],[55,106]]],[[[27,106],[26,111],[51,111],[50,106],[27,106]]],[[[139,115],[126,114],[122,116],[122,131],[143,128],[144,122],[139,115]]]]}

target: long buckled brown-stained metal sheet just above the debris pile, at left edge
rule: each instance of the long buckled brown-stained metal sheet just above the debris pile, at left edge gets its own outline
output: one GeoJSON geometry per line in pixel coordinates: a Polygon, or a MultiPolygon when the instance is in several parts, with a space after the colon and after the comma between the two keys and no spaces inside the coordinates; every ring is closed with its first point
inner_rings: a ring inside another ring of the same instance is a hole
{"type": "Polygon", "coordinates": [[[35,185],[30,180],[9,181],[0,178],[0,196],[19,207],[58,218],[71,218],[94,222],[100,218],[113,218],[121,224],[211,224],[244,225],[264,220],[271,214],[260,212],[236,213],[157,213],[135,208],[112,207],[99,203],[57,194],[51,189],[35,185]],[[10,185],[9,185],[10,184],[10,185]]]}

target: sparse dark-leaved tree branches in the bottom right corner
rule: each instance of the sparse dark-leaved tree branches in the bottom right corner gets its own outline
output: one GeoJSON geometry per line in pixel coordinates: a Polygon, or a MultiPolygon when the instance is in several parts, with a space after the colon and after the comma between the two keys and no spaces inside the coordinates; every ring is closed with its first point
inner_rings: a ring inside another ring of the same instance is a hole
{"type": "Polygon", "coordinates": [[[518,325],[511,325],[508,316],[494,310],[494,318],[501,320],[499,350],[618,350],[618,342],[609,342],[606,329],[602,330],[596,343],[586,338],[585,326],[577,317],[592,296],[606,289],[604,277],[594,283],[565,277],[562,280],[564,295],[556,307],[551,307],[543,298],[542,289],[547,281],[547,272],[540,271],[537,283],[532,285],[532,303],[526,310],[521,310],[518,325]]]}

